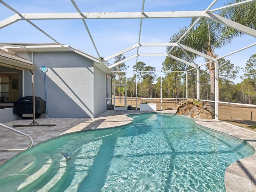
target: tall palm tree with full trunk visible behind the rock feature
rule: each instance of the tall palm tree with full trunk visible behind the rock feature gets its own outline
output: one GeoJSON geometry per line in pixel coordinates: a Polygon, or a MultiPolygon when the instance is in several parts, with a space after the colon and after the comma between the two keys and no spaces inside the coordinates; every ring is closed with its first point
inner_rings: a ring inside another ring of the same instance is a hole
{"type": "MultiPolygon", "coordinates": [[[[193,18],[191,20],[190,26],[194,24],[197,18],[193,18]]],[[[170,38],[170,42],[177,42],[184,33],[188,30],[187,27],[181,28],[179,32],[176,32],[170,38]]],[[[181,44],[184,44],[190,48],[198,50],[208,56],[213,58],[218,58],[218,55],[215,54],[216,48],[222,48],[226,44],[230,43],[234,38],[238,36],[238,32],[232,28],[228,28],[226,26],[222,26],[210,20],[208,18],[201,18],[199,22],[197,22],[190,31],[180,40],[181,44]]],[[[171,47],[167,48],[167,51],[171,50],[171,47]]],[[[174,47],[171,52],[172,55],[175,55],[179,58],[183,58],[184,60],[188,60],[188,57],[184,54],[184,52],[174,47]]],[[[193,54],[191,52],[188,53],[192,59],[198,57],[198,55],[193,54]]],[[[206,59],[207,68],[210,72],[210,99],[215,100],[215,62],[211,62],[206,59]]],[[[211,111],[212,116],[215,115],[214,102],[211,102],[211,111]]]]}

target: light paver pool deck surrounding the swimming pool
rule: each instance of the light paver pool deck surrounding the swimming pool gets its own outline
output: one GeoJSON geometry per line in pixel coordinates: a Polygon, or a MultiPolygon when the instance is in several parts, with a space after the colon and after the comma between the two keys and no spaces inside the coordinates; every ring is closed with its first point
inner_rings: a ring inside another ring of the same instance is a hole
{"type": "MultiPolygon", "coordinates": [[[[175,114],[176,110],[164,110],[157,112],[175,114]]],[[[127,114],[140,113],[142,112],[134,110],[109,110],[102,113],[97,118],[42,118],[36,119],[36,122],[40,125],[56,124],[56,126],[22,126],[16,127],[15,129],[29,134],[34,140],[33,145],[36,145],[62,134],[126,125],[132,122],[132,118],[126,116],[127,114]]],[[[29,125],[31,122],[31,119],[24,119],[6,122],[4,124],[13,127],[13,125],[29,125]]],[[[195,122],[204,127],[240,138],[256,149],[256,132],[215,120],[195,119],[195,122]]],[[[26,148],[28,145],[29,140],[27,138],[0,126],[0,149],[26,148]]],[[[18,153],[20,152],[0,152],[0,166],[10,158],[16,156],[18,153]]],[[[256,154],[234,162],[225,172],[226,192],[256,191],[255,173],[256,154]]]]}

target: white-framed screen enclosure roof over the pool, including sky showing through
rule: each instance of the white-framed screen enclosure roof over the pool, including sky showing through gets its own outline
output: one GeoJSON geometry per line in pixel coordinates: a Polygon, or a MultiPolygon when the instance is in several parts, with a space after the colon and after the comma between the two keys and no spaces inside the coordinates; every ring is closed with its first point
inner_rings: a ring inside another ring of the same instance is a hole
{"type": "Polygon", "coordinates": [[[122,62],[133,66],[142,61],[161,69],[166,57],[196,67],[197,61],[184,61],[166,52],[167,46],[177,46],[184,52],[200,55],[203,63],[204,58],[215,61],[179,42],[169,43],[172,34],[188,26],[191,18],[199,20],[206,17],[246,34],[236,46],[231,44],[229,48],[222,50],[219,58],[255,45],[256,30],[218,15],[222,9],[255,0],[225,6],[227,2],[0,0],[0,42],[50,42],[58,46],[69,44],[94,55],[102,62],[108,62],[110,68],[122,62]],[[114,58],[120,54],[124,54],[126,58],[114,64],[114,58]]]}

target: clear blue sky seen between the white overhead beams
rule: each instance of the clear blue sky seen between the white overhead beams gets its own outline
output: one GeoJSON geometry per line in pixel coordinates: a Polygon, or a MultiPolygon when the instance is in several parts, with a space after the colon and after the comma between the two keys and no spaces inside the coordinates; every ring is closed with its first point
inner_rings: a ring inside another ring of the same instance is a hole
{"type": "MultiPolygon", "coordinates": [[[[20,13],[76,12],[70,0],[4,0],[4,2],[20,13]]],[[[142,0],[75,0],[75,2],[82,12],[140,12],[142,9],[142,0]]],[[[219,0],[213,8],[223,6],[224,2],[226,1],[219,0]]],[[[144,11],[205,10],[211,3],[212,0],[145,0],[144,11]]],[[[12,15],[14,12],[0,4],[0,20],[12,15]]],[[[58,42],[97,56],[82,20],[32,20],[32,22],[58,42]]],[[[102,57],[110,56],[138,43],[140,19],[86,20],[86,24],[102,57]]],[[[169,42],[172,34],[189,24],[190,18],[144,19],[140,42],[169,42]]],[[[0,29],[0,42],[54,43],[26,21],[19,21],[0,29]]],[[[245,35],[215,52],[220,57],[255,42],[255,38],[245,35]]],[[[129,57],[135,52],[136,49],[124,55],[129,57]]],[[[166,47],[140,48],[139,52],[163,53],[166,52],[166,47]]],[[[225,59],[236,66],[244,67],[246,61],[255,53],[254,46],[225,59]]],[[[138,57],[138,61],[154,66],[157,71],[160,71],[164,57],[138,57]]],[[[114,60],[109,62],[112,64],[114,60]]],[[[200,65],[204,60],[198,59],[196,62],[200,65]]],[[[126,62],[129,66],[128,70],[132,70],[134,64],[136,64],[136,58],[126,62]]],[[[239,76],[242,74],[243,72],[240,71],[239,76]]],[[[234,82],[240,82],[240,78],[234,82]]]]}

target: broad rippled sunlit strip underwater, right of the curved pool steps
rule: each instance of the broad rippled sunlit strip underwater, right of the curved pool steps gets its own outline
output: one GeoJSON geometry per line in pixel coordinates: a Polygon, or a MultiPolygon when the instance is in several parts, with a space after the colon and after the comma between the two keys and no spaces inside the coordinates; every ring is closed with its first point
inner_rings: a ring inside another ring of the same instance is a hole
{"type": "Polygon", "coordinates": [[[81,182],[88,175],[87,172],[90,166],[93,165],[94,159],[97,156],[101,146],[102,140],[98,140],[85,144],[81,148],[77,158],[74,161],[74,164],[76,165],[76,173],[70,186],[68,186],[65,192],[76,192],[78,190],[81,182]]]}

